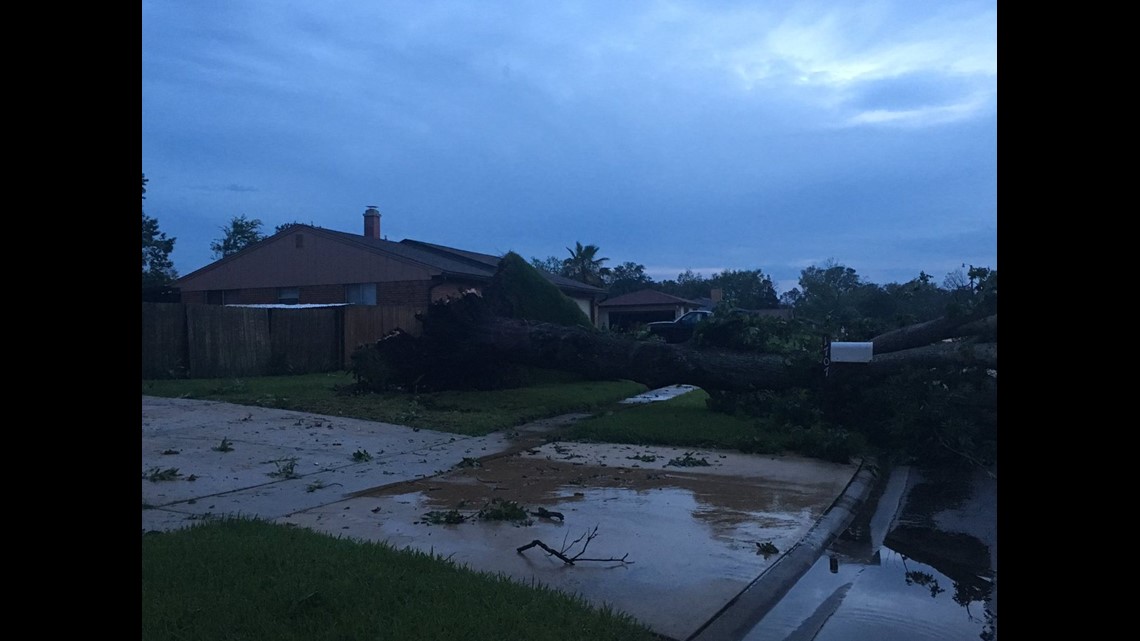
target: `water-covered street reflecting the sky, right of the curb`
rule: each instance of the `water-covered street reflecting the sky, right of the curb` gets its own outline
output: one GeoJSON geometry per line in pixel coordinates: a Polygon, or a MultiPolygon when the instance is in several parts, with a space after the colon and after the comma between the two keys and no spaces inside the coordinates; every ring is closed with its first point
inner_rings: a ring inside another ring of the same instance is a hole
{"type": "Polygon", "coordinates": [[[992,641],[997,481],[896,469],[747,641],[992,641]]]}

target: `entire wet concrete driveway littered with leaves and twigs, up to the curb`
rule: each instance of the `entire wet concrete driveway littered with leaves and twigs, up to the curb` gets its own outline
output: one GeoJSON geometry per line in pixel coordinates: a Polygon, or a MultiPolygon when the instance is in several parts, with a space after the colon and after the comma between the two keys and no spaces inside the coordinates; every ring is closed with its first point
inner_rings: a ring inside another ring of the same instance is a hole
{"type": "Polygon", "coordinates": [[[858,465],[552,440],[584,416],[475,438],[142,397],[142,528],[256,516],[546,584],[687,639],[763,577],[793,583],[793,561],[830,541],[821,524],[854,509],[836,506],[858,465]]]}

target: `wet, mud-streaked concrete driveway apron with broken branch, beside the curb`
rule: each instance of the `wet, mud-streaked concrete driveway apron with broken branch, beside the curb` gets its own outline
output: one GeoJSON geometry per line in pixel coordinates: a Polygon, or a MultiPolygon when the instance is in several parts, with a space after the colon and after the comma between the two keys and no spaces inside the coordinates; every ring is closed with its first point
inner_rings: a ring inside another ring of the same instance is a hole
{"type": "Polygon", "coordinates": [[[854,468],[555,443],[286,521],[547,584],[684,639],[807,533],[854,468]],[[504,508],[513,518],[489,518],[504,508]],[[518,551],[535,541],[577,560],[518,551]]]}

